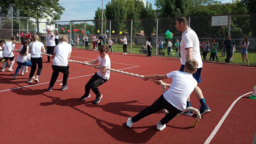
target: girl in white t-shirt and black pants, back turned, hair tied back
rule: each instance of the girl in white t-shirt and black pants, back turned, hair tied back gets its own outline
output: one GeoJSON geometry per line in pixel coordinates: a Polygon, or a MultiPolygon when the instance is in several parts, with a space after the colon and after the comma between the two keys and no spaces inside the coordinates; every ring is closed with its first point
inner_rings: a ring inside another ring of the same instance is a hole
{"type": "Polygon", "coordinates": [[[37,69],[36,64],[38,66],[37,69],[37,75],[35,77],[35,82],[39,82],[38,77],[41,74],[42,68],[43,68],[43,61],[42,61],[42,53],[45,53],[45,48],[44,44],[42,42],[37,41],[39,39],[37,34],[32,35],[33,42],[29,44],[29,53],[31,53],[31,63],[32,63],[32,68],[29,74],[29,80],[27,83],[32,82],[32,77],[35,73],[35,70],[37,69]]]}

